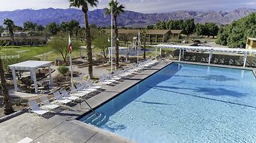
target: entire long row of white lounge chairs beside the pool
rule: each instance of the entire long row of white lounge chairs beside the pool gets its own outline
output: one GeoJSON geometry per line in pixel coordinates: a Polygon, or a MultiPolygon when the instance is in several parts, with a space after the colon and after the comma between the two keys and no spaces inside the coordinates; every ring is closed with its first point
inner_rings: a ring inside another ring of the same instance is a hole
{"type": "MultiPolygon", "coordinates": [[[[103,74],[102,76],[99,76],[99,83],[102,83],[103,85],[111,85],[124,77],[135,74],[135,72],[140,72],[146,68],[156,65],[157,63],[157,60],[143,60],[139,64],[128,66],[127,69],[119,69],[111,74],[103,74]]],[[[44,114],[50,113],[50,111],[59,108],[60,105],[67,105],[68,103],[75,102],[77,100],[80,101],[83,97],[87,97],[88,94],[93,94],[101,89],[102,86],[94,85],[91,80],[85,81],[84,83],[77,83],[76,87],[70,87],[70,94],[65,89],[53,92],[54,102],[50,102],[47,97],[40,97],[40,100],[42,101],[41,108],[36,100],[29,101],[29,111],[34,114],[38,114],[39,116],[43,116],[44,114]]]]}

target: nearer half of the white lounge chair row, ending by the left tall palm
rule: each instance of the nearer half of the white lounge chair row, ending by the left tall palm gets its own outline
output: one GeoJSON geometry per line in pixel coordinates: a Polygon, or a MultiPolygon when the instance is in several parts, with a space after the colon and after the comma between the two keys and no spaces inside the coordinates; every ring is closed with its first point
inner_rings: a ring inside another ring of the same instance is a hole
{"type": "Polygon", "coordinates": [[[93,84],[93,82],[91,82],[91,80],[88,80],[84,83],[77,83],[76,87],[70,87],[70,89],[70,94],[65,89],[53,92],[53,102],[50,102],[46,96],[40,97],[41,108],[39,107],[39,104],[36,102],[36,100],[30,100],[28,102],[28,105],[30,105],[29,111],[39,116],[49,114],[50,111],[54,111],[61,105],[67,105],[68,103],[76,102],[77,100],[79,100],[80,102],[82,98],[88,96],[88,94],[92,94],[96,91],[101,90],[102,86],[96,86],[93,84]]]}

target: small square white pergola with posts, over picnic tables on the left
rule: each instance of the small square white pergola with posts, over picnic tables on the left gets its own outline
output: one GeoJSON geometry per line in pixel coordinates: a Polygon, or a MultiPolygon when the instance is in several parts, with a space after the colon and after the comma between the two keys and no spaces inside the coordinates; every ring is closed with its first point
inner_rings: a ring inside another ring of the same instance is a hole
{"type": "Polygon", "coordinates": [[[49,71],[49,78],[50,78],[50,86],[53,85],[53,79],[51,76],[51,62],[50,61],[38,61],[38,60],[27,60],[22,63],[16,63],[13,65],[10,65],[10,69],[12,70],[13,74],[13,84],[14,84],[14,89],[15,91],[18,91],[18,85],[17,85],[17,80],[16,80],[16,70],[19,71],[30,71],[30,77],[31,80],[33,80],[33,84],[35,86],[35,92],[38,93],[38,86],[37,86],[37,80],[36,80],[36,69],[40,67],[48,67],[49,71]]]}

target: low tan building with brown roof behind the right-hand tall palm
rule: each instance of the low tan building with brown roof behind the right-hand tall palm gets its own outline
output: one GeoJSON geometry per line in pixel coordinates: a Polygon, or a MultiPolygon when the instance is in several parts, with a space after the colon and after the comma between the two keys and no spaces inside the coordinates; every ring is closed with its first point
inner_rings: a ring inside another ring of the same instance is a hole
{"type": "MultiPolygon", "coordinates": [[[[119,37],[122,35],[129,35],[131,38],[136,37],[140,29],[118,29],[119,37]]],[[[146,41],[164,43],[167,42],[170,35],[172,38],[180,38],[180,29],[147,29],[146,41]]],[[[106,29],[106,33],[110,34],[111,29],[106,29]]],[[[122,41],[122,39],[121,39],[122,41]]]]}

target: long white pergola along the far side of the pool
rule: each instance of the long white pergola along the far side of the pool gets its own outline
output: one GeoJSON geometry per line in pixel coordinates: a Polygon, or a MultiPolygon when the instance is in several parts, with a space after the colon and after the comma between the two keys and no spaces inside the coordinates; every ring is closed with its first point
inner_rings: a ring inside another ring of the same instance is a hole
{"type": "Polygon", "coordinates": [[[179,49],[179,61],[182,52],[184,50],[191,50],[191,51],[201,51],[201,52],[209,52],[209,64],[211,63],[212,52],[223,52],[223,53],[239,53],[243,54],[243,67],[246,67],[246,60],[247,55],[249,54],[256,54],[256,49],[238,49],[238,48],[223,48],[223,47],[209,47],[209,46],[178,46],[178,45],[166,45],[160,44],[155,45],[156,48],[156,57],[157,57],[157,48],[160,49],[160,56],[162,55],[162,48],[165,49],[179,49]]]}

